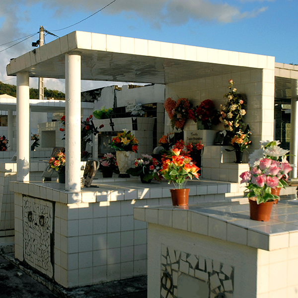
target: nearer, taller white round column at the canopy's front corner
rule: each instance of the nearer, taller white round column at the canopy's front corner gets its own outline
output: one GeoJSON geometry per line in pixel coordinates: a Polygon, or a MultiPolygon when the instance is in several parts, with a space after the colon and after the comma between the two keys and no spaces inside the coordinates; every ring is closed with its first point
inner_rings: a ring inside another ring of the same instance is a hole
{"type": "Polygon", "coordinates": [[[67,191],[80,190],[80,130],[81,130],[81,57],[65,55],[65,155],[67,191]]]}

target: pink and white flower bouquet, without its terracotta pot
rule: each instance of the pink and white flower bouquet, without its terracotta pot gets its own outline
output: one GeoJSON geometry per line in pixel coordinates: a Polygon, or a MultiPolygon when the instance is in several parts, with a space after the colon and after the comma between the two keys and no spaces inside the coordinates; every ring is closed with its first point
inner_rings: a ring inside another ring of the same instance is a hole
{"type": "Polygon", "coordinates": [[[247,183],[247,197],[256,197],[257,204],[279,199],[271,189],[288,185],[288,173],[292,170],[286,158],[289,151],[278,147],[279,144],[278,141],[262,141],[261,149],[249,155],[249,171],[240,175],[240,183],[247,183]]]}

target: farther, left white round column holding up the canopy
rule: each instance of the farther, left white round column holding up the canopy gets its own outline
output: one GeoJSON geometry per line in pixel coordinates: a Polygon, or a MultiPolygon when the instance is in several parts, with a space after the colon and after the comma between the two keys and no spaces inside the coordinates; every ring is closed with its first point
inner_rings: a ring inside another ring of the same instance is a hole
{"type": "Polygon", "coordinates": [[[29,181],[29,73],[16,74],[16,165],[17,181],[29,181]]]}

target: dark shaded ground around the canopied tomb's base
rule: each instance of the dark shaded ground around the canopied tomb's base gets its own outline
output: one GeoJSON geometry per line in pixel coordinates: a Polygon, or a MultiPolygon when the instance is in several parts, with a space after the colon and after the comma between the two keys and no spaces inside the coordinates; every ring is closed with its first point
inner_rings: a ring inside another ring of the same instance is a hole
{"type": "Polygon", "coordinates": [[[0,255],[0,298],[147,298],[146,276],[65,289],[22,265],[13,253],[0,255]]]}

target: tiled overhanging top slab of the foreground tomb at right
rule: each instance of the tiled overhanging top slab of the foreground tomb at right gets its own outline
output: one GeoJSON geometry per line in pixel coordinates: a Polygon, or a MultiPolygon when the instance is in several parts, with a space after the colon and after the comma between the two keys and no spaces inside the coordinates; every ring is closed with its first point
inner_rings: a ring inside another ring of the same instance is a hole
{"type": "Polygon", "coordinates": [[[282,200],[269,222],[249,219],[249,204],[135,207],[134,218],[263,250],[298,246],[298,200],[282,200]]]}

